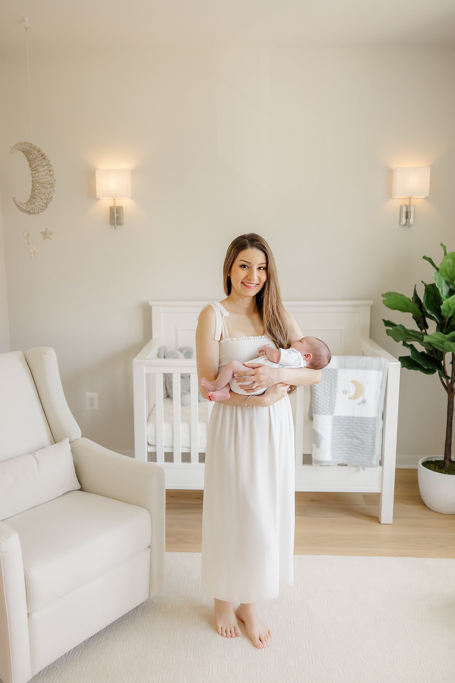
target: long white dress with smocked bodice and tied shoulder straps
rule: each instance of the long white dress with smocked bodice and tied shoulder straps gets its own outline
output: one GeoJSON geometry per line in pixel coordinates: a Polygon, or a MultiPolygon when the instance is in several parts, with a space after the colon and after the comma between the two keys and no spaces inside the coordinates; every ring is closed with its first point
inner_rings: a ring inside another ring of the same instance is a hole
{"type": "MultiPolygon", "coordinates": [[[[220,303],[215,339],[218,372],[245,363],[272,344],[266,335],[229,337],[220,303]]],[[[293,584],[294,425],[289,396],[271,406],[214,402],[207,425],[201,579],[211,596],[230,602],[276,598],[293,584]]]]}

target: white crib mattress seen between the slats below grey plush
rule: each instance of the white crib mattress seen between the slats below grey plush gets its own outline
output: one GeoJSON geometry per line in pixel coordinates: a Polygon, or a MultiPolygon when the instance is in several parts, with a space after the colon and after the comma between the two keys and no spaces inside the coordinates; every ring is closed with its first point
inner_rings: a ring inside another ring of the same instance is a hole
{"type": "MultiPolygon", "coordinates": [[[[164,448],[173,447],[173,400],[165,398],[164,403],[164,429],[163,441],[164,448]]],[[[201,401],[198,404],[198,447],[199,452],[205,452],[207,441],[207,421],[208,421],[208,401],[201,401]]],[[[190,448],[190,426],[191,426],[191,406],[181,406],[181,447],[190,448]]],[[[156,407],[153,408],[147,420],[147,441],[149,445],[156,446],[156,407]]]]}

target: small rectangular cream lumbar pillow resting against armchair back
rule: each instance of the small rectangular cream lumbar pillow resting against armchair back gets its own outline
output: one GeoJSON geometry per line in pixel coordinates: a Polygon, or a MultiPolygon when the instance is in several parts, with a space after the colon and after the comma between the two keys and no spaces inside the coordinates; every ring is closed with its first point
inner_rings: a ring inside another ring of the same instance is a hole
{"type": "Polygon", "coordinates": [[[0,520],[78,488],[68,437],[0,462],[0,520]]]}

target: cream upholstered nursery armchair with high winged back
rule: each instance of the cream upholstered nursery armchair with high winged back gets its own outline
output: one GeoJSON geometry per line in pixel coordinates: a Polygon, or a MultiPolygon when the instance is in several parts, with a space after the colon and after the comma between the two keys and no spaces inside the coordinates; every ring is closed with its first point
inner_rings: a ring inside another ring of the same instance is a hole
{"type": "Polygon", "coordinates": [[[81,438],[53,348],[0,354],[0,462],[67,436],[80,490],[0,521],[4,683],[30,680],[164,586],[164,469],[81,438]]]}

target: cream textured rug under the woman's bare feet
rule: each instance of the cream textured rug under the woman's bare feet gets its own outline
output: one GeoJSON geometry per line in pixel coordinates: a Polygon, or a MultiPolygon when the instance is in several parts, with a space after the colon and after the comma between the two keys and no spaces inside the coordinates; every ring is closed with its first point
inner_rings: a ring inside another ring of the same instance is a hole
{"type": "MultiPolygon", "coordinates": [[[[200,553],[166,553],[166,588],[35,675],[40,683],[453,683],[455,559],[295,555],[258,606],[274,634],[226,639],[200,553]]],[[[237,607],[235,605],[235,607],[237,607]]]]}

